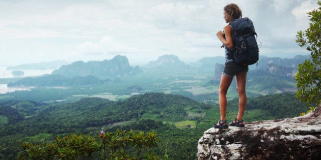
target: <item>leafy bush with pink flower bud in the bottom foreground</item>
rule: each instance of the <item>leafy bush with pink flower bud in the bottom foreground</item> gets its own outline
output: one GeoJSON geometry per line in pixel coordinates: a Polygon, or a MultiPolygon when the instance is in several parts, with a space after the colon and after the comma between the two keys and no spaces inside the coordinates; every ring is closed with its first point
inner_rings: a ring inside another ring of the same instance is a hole
{"type": "MultiPolygon", "coordinates": [[[[19,159],[140,159],[151,147],[157,147],[154,132],[100,132],[99,136],[72,134],[56,137],[55,143],[20,144],[19,159]],[[102,153],[102,154],[100,154],[102,153]]],[[[158,159],[147,154],[147,159],[158,159]]]]}

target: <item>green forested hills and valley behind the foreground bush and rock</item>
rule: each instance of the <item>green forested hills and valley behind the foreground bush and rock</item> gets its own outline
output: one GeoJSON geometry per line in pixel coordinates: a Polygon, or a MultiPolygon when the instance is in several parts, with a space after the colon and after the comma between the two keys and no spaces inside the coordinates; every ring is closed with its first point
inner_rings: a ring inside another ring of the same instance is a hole
{"type": "MultiPolygon", "coordinates": [[[[230,101],[227,119],[237,112],[230,101]]],[[[123,101],[85,98],[73,103],[51,104],[32,101],[0,103],[0,158],[14,159],[20,142],[52,141],[71,133],[99,136],[122,130],[154,130],[161,139],[157,155],[171,159],[195,159],[197,141],[219,118],[219,107],[199,103],[181,95],[146,93],[123,101]]],[[[306,111],[293,93],[265,95],[248,100],[244,120],[298,116],[306,111]],[[288,105],[286,105],[288,104],[288,105]]]]}

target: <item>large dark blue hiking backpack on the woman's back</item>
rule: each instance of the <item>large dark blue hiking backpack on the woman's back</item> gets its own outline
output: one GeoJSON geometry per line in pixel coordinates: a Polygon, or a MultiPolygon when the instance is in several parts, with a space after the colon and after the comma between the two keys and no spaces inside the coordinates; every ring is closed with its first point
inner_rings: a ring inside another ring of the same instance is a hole
{"type": "Polygon", "coordinates": [[[257,63],[259,50],[253,22],[247,17],[238,18],[231,22],[231,26],[233,30],[233,48],[229,50],[229,58],[234,59],[240,66],[257,63]]]}

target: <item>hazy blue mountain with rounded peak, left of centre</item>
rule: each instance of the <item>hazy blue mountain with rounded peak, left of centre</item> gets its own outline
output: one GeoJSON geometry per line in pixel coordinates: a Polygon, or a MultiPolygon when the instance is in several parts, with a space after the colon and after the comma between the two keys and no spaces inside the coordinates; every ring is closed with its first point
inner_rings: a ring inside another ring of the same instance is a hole
{"type": "Polygon", "coordinates": [[[126,56],[116,55],[111,60],[103,61],[76,61],[70,65],[65,65],[52,72],[52,75],[62,75],[66,77],[75,76],[95,76],[106,77],[126,77],[141,72],[139,66],[131,67],[126,56]]]}

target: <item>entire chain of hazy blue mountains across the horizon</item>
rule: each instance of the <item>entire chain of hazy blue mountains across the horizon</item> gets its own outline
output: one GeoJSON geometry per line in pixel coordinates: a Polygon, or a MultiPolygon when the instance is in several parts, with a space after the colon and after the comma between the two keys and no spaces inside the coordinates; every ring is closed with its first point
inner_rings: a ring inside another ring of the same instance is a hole
{"type": "MultiPolygon", "coordinates": [[[[269,93],[269,89],[273,90],[272,92],[295,91],[293,77],[299,64],[308,58],[309,55],[297,55],[293,58],[283,59],[261,56],[257,66],[251,65],[249,67],[247,87],[266,93],[269,93]]],[[[27,77],[8,83],[8,86],[101,85],[112,82],[110,78],[116,78],[118,82],[121,82],[121,77],[140,74],[145,70],[156,74],[168,74],[168,76],[177,76],[186,71],[204,75],[212,74],[209,84],[218,85],[223,73],[224,62],[223,56],[217,56],[204,57],[192,65],[185,65],[175,55],[163,55],[157,60],[149,62],[144,66],[144,70],[141,70],[139,66],[131,67],[125,56],[117,55],[111,60],[89,61],[87,63],[76,61],[53,71],[50,76],[27,77]]]]}

